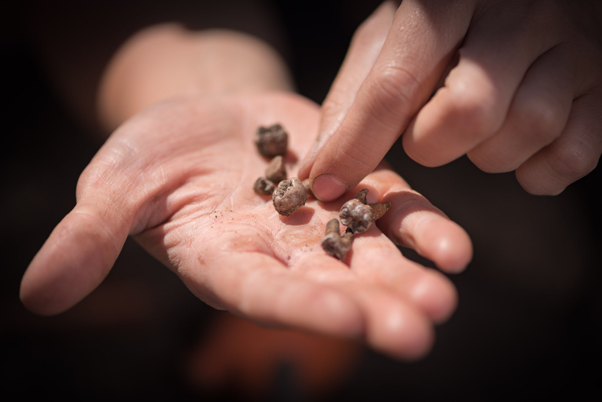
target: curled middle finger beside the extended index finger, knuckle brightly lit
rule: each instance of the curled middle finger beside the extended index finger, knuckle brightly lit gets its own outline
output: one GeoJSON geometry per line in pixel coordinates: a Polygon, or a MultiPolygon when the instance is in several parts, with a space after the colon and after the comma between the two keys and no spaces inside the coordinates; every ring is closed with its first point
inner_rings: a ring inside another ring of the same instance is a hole
{"type": "Polygon", "coordinates": [[[521,14],[500,3],[476,17],[458,66],[403,135],[409,157],[444,165],[500,130],[527,69],[559,41],[559,30],[541,18],[542,7],[525,2],[521,14]]]}

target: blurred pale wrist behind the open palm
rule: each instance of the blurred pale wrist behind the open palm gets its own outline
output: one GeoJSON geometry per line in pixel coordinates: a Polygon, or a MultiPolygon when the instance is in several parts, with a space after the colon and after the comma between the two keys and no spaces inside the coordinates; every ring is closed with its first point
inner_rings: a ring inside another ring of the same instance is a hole
{"type": "Polygon", "coordinates": [[[284,61],[255,37],[235,31],[187,31],[175,24],[146,28],[108,64],[97,113],[114,130],[155,102],[179,96],[293,90],[284,61]]]}

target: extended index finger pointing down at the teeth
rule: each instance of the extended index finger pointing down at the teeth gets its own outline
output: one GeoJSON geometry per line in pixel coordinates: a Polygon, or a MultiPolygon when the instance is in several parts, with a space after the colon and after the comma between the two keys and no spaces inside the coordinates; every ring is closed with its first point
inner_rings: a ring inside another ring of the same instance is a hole
{"type": "MultiPolygon", "coordinates": [[[[379,57],[309,174],[316,198],[337,199],[376,168],[427,101],[464,38],[474,1],[404,1],[379,57]]],[[[347,55],[349,58],[351,55],[347,55]]]]}

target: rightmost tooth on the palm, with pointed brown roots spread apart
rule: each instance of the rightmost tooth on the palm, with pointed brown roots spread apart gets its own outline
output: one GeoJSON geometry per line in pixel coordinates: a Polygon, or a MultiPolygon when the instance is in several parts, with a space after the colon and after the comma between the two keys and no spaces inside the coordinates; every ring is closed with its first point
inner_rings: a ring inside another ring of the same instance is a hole
{"type": "Polygon", "coordinates": [[[391,207],[391,203],[366,205],[367,193],[367,189],[361,190],[355,198],[344,203],[339,212],[341,223],[349,227],[353,233],[364,233],[391,207]]]}

